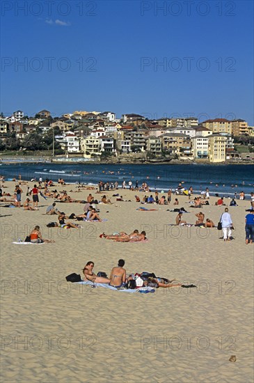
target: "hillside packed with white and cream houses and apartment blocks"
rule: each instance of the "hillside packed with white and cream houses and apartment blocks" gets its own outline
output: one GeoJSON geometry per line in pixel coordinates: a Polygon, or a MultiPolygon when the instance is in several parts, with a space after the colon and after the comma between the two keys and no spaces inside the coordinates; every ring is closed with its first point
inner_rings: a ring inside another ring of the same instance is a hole
{"type": "Polygon", "coordinates": [[[245,120],[198,118],[149,120],[139,114],[111,111],[74,111],[52,117],[50,111],[24,116],[21,110],[0,119],[1,156],[47,152],[85,159],[150,161],[181,159],[221,163],[251,161],[254,157],[254,127],[245,120]]]}

